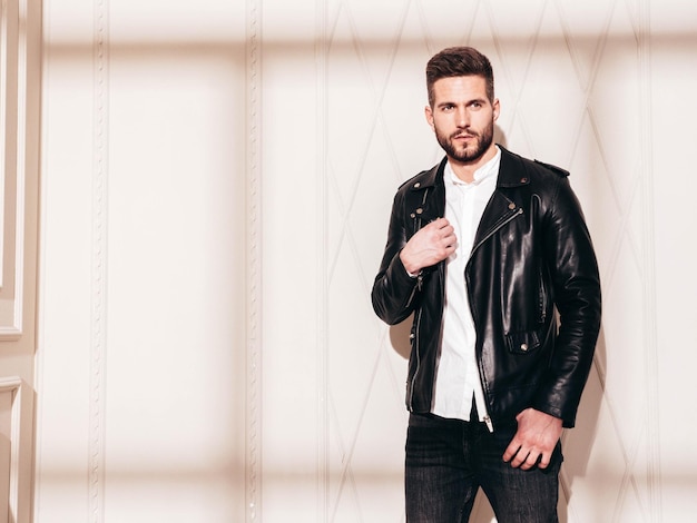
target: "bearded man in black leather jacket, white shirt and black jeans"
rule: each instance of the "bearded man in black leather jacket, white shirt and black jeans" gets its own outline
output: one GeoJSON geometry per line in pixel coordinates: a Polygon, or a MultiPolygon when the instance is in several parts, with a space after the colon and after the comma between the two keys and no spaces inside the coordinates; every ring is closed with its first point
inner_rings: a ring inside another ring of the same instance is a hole
{"type": "Polygon", "coordinates": [[[591,240],[567,171],[493,144],[487,57],[445,49],[426,86],[445,158],[400,187],[372,292],[387,324],[414,315],[406,519],[465,522],[481,486],[499,523],[557,522],[600,327],[591,240]]]}

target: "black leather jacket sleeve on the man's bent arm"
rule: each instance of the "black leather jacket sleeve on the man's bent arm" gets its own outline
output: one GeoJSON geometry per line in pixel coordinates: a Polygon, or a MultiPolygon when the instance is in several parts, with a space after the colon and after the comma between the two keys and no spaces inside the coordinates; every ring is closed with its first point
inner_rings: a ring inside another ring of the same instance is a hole
{"type": "Polygon", "coordinates": [[[400,258],[406,241],[404,199],[402,191],[397,191],[392,204],[385,251],[371,293],[375,314],[389,325],[409,317],[420,292],[421,277],[410,276],[400,258]]]}

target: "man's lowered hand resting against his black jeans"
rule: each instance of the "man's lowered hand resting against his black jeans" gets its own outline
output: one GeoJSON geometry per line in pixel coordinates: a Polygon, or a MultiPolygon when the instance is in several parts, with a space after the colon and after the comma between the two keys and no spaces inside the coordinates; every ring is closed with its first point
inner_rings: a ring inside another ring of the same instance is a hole
{"type": "Polygon", "coordinates": [[[503,461],[523,471],[534,465],[547,468],[561,437],[561,420],[534,408],[524,409],[516,420],[518,431],[503,453],[503,461]]]}

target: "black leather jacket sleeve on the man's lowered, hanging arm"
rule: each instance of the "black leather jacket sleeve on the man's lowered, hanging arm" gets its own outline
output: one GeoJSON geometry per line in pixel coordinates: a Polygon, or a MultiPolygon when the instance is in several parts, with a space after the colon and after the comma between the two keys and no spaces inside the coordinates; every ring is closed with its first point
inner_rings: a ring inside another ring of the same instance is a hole
{"type": "Polygon", "coordinates": [[[572,427],[600,330],[600,276],[580,204],[568,178],[558,181],[543,241],[560,325],[533,406],[572,427]]]}

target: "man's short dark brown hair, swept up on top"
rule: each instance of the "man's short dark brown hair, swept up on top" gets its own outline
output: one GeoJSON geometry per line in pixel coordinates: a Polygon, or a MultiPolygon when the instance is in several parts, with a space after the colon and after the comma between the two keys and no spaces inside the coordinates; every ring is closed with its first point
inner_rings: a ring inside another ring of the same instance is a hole
{"type": "Polygon", "coordinates": [[[449,47],[429,60],[426,89],[433,107],[433,83],[441,78],[479,76],[487,80],[487,97],[493,102],[493,69],[489,59],[472,47],[449,47]]]}

